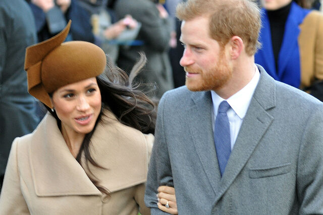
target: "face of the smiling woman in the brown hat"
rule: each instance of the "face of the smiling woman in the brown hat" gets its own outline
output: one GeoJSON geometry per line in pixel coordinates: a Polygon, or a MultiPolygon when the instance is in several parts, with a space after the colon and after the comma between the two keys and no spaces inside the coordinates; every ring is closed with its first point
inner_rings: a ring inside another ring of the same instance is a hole
{"type": "Polygon", "coordinates": [[[62,121],[62,132],[89,133],[101,111],[101,94],[96,78],[59,88],[52,94],[52,104],[62,121]]]}

